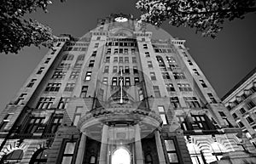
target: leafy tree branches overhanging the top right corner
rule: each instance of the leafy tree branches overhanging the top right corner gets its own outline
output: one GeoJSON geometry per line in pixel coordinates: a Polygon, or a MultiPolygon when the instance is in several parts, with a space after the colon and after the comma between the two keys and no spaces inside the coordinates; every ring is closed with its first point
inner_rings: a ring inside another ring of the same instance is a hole
{"type": "Polygon", "coordinates": [[[224,20],[243,19],[255,12],[254,0],[139,0],[140,21],[160,26],[169,20],[174,26],[195,28],[205,37],[216,37],[224,20]]]}

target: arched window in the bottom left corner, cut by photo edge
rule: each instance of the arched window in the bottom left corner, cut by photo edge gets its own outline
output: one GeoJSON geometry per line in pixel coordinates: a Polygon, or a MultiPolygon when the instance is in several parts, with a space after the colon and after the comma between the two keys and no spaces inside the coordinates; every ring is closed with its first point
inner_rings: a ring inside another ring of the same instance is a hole
{"type": "Polygon", "coordinates": [[[8,155],[4,155],[0,163],[3,164],[18,164],[23,157],[23,150],[14,150],[8,155]]]}

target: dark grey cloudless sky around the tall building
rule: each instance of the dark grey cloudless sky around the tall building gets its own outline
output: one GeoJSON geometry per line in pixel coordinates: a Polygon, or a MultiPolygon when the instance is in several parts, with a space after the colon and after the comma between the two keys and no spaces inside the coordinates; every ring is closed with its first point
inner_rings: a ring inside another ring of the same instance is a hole
{"type": "MultiPolygon", "coordinates": [[[[49,13],[41,10],[29,15],[49,25],[55,35],[69,33],[81,37],[96,27],[97,18],[109,14],[134,14],[135,0],[67,0],[55,1],[49,13]]],[[[215,39],[201,37],[195,30],[163,25],[172,37],[186,40],[186,46],[201,70],[221,98],[256,66],[256,14],[247,14],[244,20],[224,24],[224,30],[215,39]]],[[[19,91],[32,73],[46,48],[24,48],[19,54],[0,54],[0,108],[19,91]]]]}

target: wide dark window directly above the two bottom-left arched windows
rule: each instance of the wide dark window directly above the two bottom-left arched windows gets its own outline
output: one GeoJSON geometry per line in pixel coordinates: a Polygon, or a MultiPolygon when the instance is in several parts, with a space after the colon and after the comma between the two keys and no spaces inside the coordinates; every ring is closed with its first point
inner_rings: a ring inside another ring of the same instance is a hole
{"type": "Polygon", "coordinates": [[[44,132],[44,119],[43,116],[32,116],[26,125],[25,133],[43,133],[44,132]]]}

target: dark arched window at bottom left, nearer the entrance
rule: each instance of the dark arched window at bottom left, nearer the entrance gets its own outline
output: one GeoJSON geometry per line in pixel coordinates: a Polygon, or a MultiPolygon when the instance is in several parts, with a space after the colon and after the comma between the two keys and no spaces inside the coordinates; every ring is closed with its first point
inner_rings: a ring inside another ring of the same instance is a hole
{"type": "Polygon", "coordinates": [[[44,164],[47,161],[48,152],[45,149],[37,150],[32,159],[30,160],[29,164],[44,164]]]}

